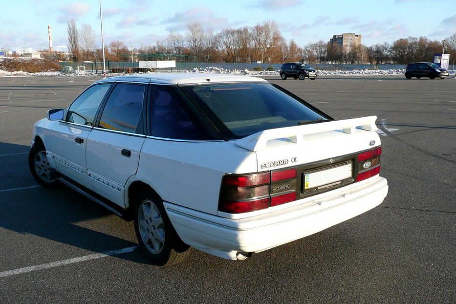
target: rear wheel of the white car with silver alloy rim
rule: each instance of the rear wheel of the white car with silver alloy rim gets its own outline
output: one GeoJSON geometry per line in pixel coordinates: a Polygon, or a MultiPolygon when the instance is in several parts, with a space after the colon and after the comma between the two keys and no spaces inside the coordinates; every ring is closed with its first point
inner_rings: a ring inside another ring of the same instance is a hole
{"type": "Polygon", "coordinates": [[[139,244],[152,264],[170,266],[189,253],[174,230],[162,200],[152,191],[141,191],[135,200],[134,229],[139,244]]]}

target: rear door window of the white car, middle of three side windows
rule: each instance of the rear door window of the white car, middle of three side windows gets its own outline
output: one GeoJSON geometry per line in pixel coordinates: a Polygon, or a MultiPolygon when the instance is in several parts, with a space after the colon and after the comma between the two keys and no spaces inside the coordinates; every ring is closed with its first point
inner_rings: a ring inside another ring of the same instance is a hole
{"type": "Polygon", "coordinates": [[[145,88],[143,85],[117,84],[109,95],[98,127],[143,134],[145,88]]]}

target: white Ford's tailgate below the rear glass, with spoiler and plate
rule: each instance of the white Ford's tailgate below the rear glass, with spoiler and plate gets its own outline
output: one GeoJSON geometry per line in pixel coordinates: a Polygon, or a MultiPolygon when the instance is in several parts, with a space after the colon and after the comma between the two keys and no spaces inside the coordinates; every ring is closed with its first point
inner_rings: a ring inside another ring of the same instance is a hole
{"type": "Polygon", "coordinates": [[[234,143],[256,152],[258,172],[271,172],[271,198],[289,193],[293,199],[295,193],[295,200],[356,182],[358,174],[378,166],[379,157],[371,161],[381,153],[375,120],[370,116],[264,130],[234,143]],[[368,154],[361,159],[363,152],[368,154]],[[296,173],[286,178],[290,170],[296,173]]]}

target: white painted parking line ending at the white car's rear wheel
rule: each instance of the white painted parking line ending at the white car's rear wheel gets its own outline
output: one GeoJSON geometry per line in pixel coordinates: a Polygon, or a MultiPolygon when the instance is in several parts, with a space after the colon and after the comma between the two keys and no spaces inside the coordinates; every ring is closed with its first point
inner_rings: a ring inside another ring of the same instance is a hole
{"type": "Polygon", "coordinates": [[[139,246],[127,247],[127,248],[123,248],[123,249],[112,250],[112,251],[107,251],[107,252],[103,252],[103,253],[96,253],[96,254],[92,254],[92,255],[88,255],[88,256],[67,259],[67,260],[63,260],[63,261],[56,261],[56,262],[50,262],[50,263],[45,263],[45,264],[40,264],[40,265],[24,267],[24,268],[7,270],[7,271],[0,272],[0,278],[14,276],[14,275],[18,275],[18,274],[25,273],[25,272],[32,272],[32,271],[41,270],[41,269],[47,269],[47,268],[68,265],[68,264],[73,264],[73,263],[79,263],[82,261],[111,257],[111,256],[115,256],[115,255],[122,254],[122,253],[132,252],[138,247],[139,246]]]}

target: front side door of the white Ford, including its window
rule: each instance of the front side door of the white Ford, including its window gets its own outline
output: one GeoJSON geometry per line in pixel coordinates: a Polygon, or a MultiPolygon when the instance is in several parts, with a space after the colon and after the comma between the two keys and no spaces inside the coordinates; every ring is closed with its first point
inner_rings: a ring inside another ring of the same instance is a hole
{"type": "Polygon", "coordinates": [[[82,92],[67,108],[65,120],[54,125],[46,143],[56,171],[85,187],[87,136],[110,86],[110,83],[94,85],[82,92]]]}

